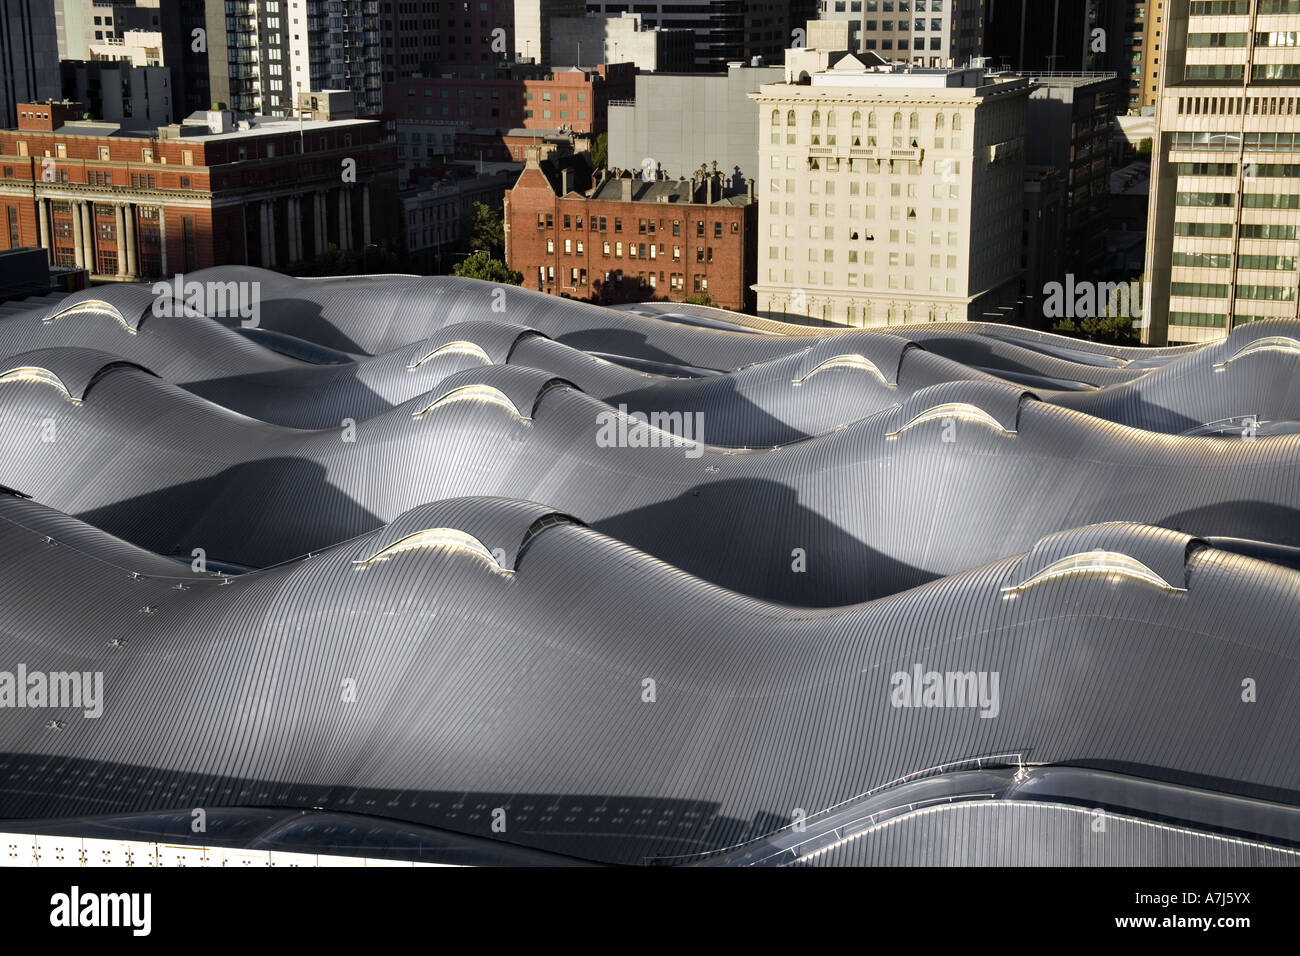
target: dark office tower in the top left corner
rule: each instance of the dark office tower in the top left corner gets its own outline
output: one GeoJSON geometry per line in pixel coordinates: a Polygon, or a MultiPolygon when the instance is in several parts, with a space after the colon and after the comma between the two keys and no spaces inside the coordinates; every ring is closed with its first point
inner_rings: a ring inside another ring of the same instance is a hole
{"type": "Polygon", "coordinates": [[[0,0],[0,127],[18,125],[18,103],[57,98],[58,33],[49,0],[0,0]]]}

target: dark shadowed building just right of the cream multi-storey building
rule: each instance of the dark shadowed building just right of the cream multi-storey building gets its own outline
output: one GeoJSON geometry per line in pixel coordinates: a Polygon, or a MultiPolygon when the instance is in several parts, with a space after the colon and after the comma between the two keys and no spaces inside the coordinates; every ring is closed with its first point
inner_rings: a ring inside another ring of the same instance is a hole
{"type": "Polygon", "coordinates": [[[1041,73],[1030,81],[1026,161],[1066,174],[1065,269],[1097,276],[1105,268],[1117,75],[1041,73]]]}

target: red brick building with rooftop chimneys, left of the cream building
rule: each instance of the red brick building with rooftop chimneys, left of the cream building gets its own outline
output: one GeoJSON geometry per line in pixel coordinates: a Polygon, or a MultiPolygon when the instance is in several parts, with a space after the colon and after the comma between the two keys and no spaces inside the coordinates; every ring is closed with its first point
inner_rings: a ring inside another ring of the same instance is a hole
{"type": "Polygon", "coordinates": [[[506,194],[506,260],[529,289],[592,302],[681,302],[705,294],[753,311],[758,204],[753,179],[597,170],[586,157],[538,161],[506,194]]]}

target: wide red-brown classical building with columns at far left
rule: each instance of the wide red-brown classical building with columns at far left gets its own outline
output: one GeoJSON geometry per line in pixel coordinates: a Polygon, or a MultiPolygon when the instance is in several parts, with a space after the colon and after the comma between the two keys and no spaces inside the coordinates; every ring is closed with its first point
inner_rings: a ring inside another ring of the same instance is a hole
{"type": "Polygon", "coordinates": [[[290,271],[400,237],[396,151],[374,120],[231,111],[129,130],[27,103],[0,130],[0,248],[136,280],[247,264],[290,271]]]}

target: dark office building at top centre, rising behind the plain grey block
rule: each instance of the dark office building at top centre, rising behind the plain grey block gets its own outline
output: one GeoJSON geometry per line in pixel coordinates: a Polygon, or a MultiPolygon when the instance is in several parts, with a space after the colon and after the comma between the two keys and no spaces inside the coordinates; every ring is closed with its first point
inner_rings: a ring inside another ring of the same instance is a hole
{"type": "Polygon", "coordinates": [[[589,14],[640,13],[647,23],[696,35],[694,68],[719,73],[734,60],[780,60],[794,31],[814,17],[814,0],[589,0],[589,14]]]}

